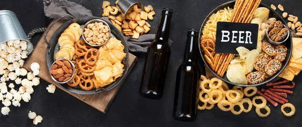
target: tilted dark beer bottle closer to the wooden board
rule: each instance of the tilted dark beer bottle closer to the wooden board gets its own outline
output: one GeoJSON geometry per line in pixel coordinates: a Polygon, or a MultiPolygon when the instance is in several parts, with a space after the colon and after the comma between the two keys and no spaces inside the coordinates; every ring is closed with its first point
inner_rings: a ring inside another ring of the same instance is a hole
{"type": "Polygon", "coordinates": [[[170,58],[168,44],[170,23],[173,11],[162,10],[162,18],[156,32],[155,40],[149,45],[142,72],[139,94],[150,99],[163,96],[167,66],[170,58]]]}

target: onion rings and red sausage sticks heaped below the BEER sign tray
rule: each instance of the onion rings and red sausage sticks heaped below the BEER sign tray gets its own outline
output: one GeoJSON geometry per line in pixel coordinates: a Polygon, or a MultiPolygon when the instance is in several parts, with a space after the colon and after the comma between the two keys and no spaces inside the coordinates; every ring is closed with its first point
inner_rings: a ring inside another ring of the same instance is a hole
{"type": "Polygon", "coordinates": [[[278,103],[282,103],[281,111],[285,116],[291,116],[295,113],[295,108],[291,103],[287,103],[288,100],[286,93],[292,94],[290,90],[280,89],[280,88],[293,88],[292,85],[280,85],[288,82],[278,81],[273,83],[268,83],[267,86],[273,86],[273,88],[261,89],[265,93],[257,90],[256,86],[253,87],[241,87],[234,86],[232,89],[229,86],[220,80],[219,78],[207,79],[205,76],[200,76],[200,86],[201,89],[199,92],[199,100],[203,104],[198,105],[198,109],[212,109],[215,104],[222,111],[231,111],[233,114],[241,114],[242,112],[250,112],[253,105],[256,107],[255,111],[260,117],[266,117],[270,114],[270,108],[267,106],[267,101],[272,103],[272,105],[277,106],[278,103]],[[250,92],[252,90],[252,92],[250,92]],[[254,96],[258,93],[258,96],[254,96]],[[246,98],[244,98],[246,96],[246,98]],[[252,100],[249,97],[252,97],[252,100]],[[258,103],[258,100],[262,102],[258,103]],[[277,102],[275,102],[277,101],[277,102]],[[248,104],[248,107],[244,107],[244,103],[248,104]],[[200,106],[201,105],[201,106],[200,106]],[[239,108],[237,108],[237,107],[239,108]],[[284,107],[290,107],[290,112],[285,112],[284,107]],[[262,113],[260,110],[265,109],[267,112],[262,113]]]}

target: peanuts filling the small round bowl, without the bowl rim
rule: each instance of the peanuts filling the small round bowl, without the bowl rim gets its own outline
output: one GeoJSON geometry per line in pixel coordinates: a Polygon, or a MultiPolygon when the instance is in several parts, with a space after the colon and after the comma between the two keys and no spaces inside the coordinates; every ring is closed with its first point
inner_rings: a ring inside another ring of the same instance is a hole
{"type": "Polygon", "coordinates": [[[95,22],[88,24],[87,28],[84,28],[85,40],[92,45],[104,44],[109,39],[109,26],[103,22],[95,22]]]}

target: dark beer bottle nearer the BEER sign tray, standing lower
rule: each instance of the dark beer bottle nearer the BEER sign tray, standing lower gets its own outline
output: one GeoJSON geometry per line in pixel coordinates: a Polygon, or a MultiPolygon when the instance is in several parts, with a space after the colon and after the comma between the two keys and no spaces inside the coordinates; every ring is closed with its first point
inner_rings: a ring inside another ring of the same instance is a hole
{"type": "Polygon", "coordinates": [[[184,63],[178,68],[174,96],[173,117],[181,121],[195,121],[199,95],[199,68],[195,64],[198,31],[189,29],[184,63]]]}

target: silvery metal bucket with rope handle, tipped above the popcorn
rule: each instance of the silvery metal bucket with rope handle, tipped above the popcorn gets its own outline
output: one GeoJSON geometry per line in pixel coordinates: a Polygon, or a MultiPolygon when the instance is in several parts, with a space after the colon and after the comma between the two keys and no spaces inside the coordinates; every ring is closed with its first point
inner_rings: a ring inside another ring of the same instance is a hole
{"type": "Polygon", "coordinates": [[[0,11],[0,43],[12,40],[23,40],[27,42],[27,52],[33,51],[33,44],[28,40],[16,14],[12,11],[0,11]]]}

